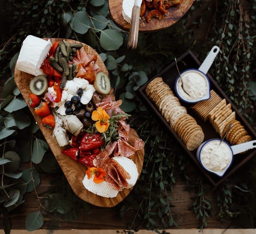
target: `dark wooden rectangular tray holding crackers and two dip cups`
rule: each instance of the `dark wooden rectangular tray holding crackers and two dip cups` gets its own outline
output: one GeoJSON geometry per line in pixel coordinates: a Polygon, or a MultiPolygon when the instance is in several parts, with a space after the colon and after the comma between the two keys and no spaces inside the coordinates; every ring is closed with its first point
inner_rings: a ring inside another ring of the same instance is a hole
{"type": "MultiPolygon", "coordinates": [[[[201,63],[198,61],[196,56],[191,51],[188,51],[188,52],[184,53],[182,56],[180,56],[177,60],[177,63],[178,63],[180,72],[182,72],[186,69],[190,69],[190,68],[198,68],[201,65],[201,63]]],[[[211,89],[213,89],[222,99],[225,98],[227,100],[227,103],[231,104],[232,109],[236,112],[236,119],[241,121],[241,123],[243,124],[245,129],[248,131],[249,135],[251,135],[252,138],[256,139],[256,133],[255,133],[254,129],[252,129],[252,127],[249,125],[249,123],[239,113],[236,106],[231,102],[231,100],[227,97],[227,95],[223,92],[223,90],[218,86],[218,84],[211,77],[211,75],[209,73],[207,73],[207,75],[210,79],[211,89]]],[[[175,62],[172,62],[168,67],[163,69],[163,71],[158,73],[151,80],[153,80],[156,77],[162,77],[164,82],[167,83],[170,86],[173,93],[175,93],[174,84],[175,84],[175,79],[177,76],[178,76],[178,72],[177,72],[177,69],[175,66],[175,62]]],[[[149,82],[151,80],[149,80],[149,82]]],[[[175,136],[177,141],[185,149],[185,151],[188,153],[188,155],[191,157],[191,159],[195,162],[197,167],[202,171],[202,173],[210,180],[210,182],[214,186],[218,186],[220,183],[222,183],[224,180],[226,180],[231,174],[233,174],[238,168],[240,168],[245,162],[247,162],[252,156],[254,156],[256,154],[256,149],[254,149],[254,150],[250,150],[244,154],[235,155],[232,165],[230,166],[230,168],[228,169],[228,171],[225,173],[225,175],[222,178],[205,171],[196,159],[196,150],[189,151],[186,148],[186,146],[184,145],[182,140],[180,140],[178,135],[172,130],[172,128],[170,127],[168,122],[165,121],[165,119],[163,118],[161,113],[158,111],[156,106],[146,96],[145,89],[149,82],[147,82],[144,86],[142,86],[139,89],[140,95],[142,96],[143,99],[145,99],[146,103],[153,109],[153,111],[160,118],[160,120],[163,122],[163,124],[166,126],[166,128],[175,136]]],[[[176,93],[175,93],[175,95],[176,95],[176,93]]],[[[201,120],[198,117],[198,115],[195,112],[193,112],[190,109],[191,105],[193,105],[193,104],[185,103],[181,100],[180,100],[180,103],[182,106],[187,108],[188,114],[190,114],[193,118],[195,118],[198,125],[200,125],[202,127],[204,135],[205,135],[204,141],[212,139],[212,138],[220,138],[218,133],[215,132],[214,128],[210,124],[209,120],[204,122],[203,120],[201,120]]]]}

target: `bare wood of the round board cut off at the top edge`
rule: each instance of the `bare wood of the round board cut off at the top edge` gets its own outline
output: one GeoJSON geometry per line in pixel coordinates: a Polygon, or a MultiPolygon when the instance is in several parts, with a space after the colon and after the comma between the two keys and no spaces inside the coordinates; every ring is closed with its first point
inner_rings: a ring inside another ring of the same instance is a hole
{"type": "MultiPolygon", "coordinates": [[[[132,0],[131,0],[132,1],[132,0]]],[[[139,32],[153,32],[160,29],[165,29],[175,24],[192,6],[193,0],[183,0],[183,2],[177,6],[170,7],[168,13],[163,15],[161,20],[153,17],[149,23],[146,22],[146,15],[149,11],[142,16],[139,23],[139,32]]],[[[123,0],[109,0],[109,14],[113,22],[124,30],[130,29],[128,24],[122,15],[122,4],[123,0]]]]}

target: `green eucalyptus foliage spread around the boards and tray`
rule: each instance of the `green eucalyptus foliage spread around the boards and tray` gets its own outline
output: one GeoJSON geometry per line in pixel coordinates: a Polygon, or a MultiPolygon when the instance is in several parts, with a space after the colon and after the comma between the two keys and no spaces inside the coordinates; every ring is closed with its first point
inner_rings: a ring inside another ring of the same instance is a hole
{"type": "MultiPolygon", "coordinates": [[[[25,225],[30,231],[44,224],[42,209],[66,221],[77,219],[74,205],[84,207],[88,212],[87,204],[73,194],[53,154],[48,152],[38,125],[14,82],[14,66],[20,46],[29,34],[41,38],[70,38],[95,48],[109,70],[115,95],[123,100],[121,108],[125,112],[132,112],[130,124],[145,141],[145,158],[136,186],[118,205],[121,217],[127,210],[134,212],[134,218],[127,228],[134,231],[147,228],[159,233],[157,229],[177,225],[172,209],[172,186],[178,176],[196,193],[192,208],[201,222],[201,228],[206,227],[207,218],[211,215],[206,182],[201,178],[197,181],[190,179],[187,155],[153,118],[151,111],[139,99],[137,90],[148,78],[169,65],[174,55],[177,57],[191,49],[197,52],[198,59],[202,61],[211,46],[218,45],[221,51],[209,73],[255,128],[256,84],[252,77],[255,77],[256,71],[256,1],[251,0],[250,3],[251,9],[245,13],[241,1],[214,2],[195,22],[188,24],[187,19],[193,10],[201,7],[201,2],[197,1],[189,14],[176,25],[164,31],[140,34],[134,53],[126,49],[127,32],[110,19],[106,0],[6,1],[6,9],[0,9],[3,24],[11,25],[0,39],[0,75],[9,78],[2,92],[5,100],[0,104],[0,207],[1,217],[6,220],[6,233],[11,228],[8,212],[24,202],[26,192],[33,191],[39,203],[39,210],[26,218],[25,225]],[[211,8],[214,8],[214,15],[206,38],[196,40],[193,35],[204,24],[205,15],[209,14],[211,8]],[[22,172],[19,171],[20,162],[27,162],[22,172]],[[175,162],[177,166],[174,166],[175,162]],[[38,164],[35,165],[37,169],[34,164],[38,164]],[[63,185],[60,189],[52,186],[43,198],[37,194],[41,170],[59,173],[55,182],[63,185]]],[[[255,162],[248,166],[242,178],[239,174],[233,175],[231,180],[216,188],[221,221],[242,220],[237,223],[244,223],[243,226],[247,228],[256,226],[255,222],[248,221],[254,220],[250,217],[256,217],[256,208],[251,205],[256,204],[255,180],[247,180],[250,176],[256,179],[254,165],[255,162]]],[[[59,225],[55,225],[54,229],[57,227],[59,225]]],[[[131,233],[130,230],[125,233],[131,233]]]]}

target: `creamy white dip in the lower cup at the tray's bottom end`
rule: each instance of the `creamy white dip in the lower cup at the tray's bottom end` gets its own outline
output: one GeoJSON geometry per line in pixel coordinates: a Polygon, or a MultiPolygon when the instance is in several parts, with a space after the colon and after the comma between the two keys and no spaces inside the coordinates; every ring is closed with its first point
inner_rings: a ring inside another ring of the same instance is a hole
{"type": "Polygon", "coordinates": [[[203,165],[212,171],[223,171],[232,159],[232,153],[229,146],[219,141],[210,141],[201,151],[201,161],[203,165]]]}

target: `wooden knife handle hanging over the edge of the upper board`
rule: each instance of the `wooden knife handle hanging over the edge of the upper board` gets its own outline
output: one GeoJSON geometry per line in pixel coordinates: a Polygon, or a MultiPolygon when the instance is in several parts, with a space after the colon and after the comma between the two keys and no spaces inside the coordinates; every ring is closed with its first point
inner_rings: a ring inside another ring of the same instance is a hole
{"type": "Polygon", "coordinates": [[[137,48],[138,34],[139,34],[139,14],[140,14],[140,7],[133,6],[131,26],[130,26],[128,43],[127,43],[128,49],[137,48]]]}

